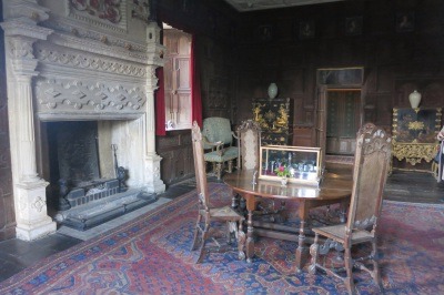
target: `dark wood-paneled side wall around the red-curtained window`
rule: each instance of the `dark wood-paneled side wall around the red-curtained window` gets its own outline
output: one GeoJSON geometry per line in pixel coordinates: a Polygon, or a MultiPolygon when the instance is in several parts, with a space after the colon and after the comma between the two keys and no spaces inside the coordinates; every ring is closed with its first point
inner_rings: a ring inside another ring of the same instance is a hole
{"type": "MultiPolygon", "coordinates": [[[[196,63],[201,84],[203,118],[222,116],[236,121],[236,21],[223,1],[162,0],[158,21],[196,37],[196,63]]],[[[157,138],[163,157],[161,179],[167,185],[194,175],[191,131],[167,132],[157,138]]]]}

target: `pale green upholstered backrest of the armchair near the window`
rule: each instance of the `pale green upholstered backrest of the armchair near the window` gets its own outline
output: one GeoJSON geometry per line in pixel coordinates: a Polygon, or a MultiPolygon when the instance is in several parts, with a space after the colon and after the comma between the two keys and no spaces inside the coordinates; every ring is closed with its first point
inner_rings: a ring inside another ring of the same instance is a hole
{"type": "MultiPolygon", "coordinates": [[[[202,134],[209,142],[222,141],[224,144],[232,145],[233,133],[230,120],[226,118],[211,116],[203,120],[202,134]]],[[[205,150],[211,149],[204,144],[205,150]]]]}

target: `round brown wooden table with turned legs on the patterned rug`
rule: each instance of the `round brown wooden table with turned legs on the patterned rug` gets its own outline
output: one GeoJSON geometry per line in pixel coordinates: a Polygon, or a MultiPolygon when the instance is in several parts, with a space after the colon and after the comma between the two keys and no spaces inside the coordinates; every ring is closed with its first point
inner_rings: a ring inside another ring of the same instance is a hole
{"type": "MultiPolygon", "coordinates": [[[[350,177],[337,177],[337,175],[324,176],[320,186],[290,183],[282,186],[280,182],[259,180],[254,177],[254,171],[243,170],[224,176],[224,183],[234,192],[245,199],[248,210],[248,233],[246,233],[246,260],[251,262],[254,255],[253,240],[253,212],[260,199],[272,199],[282,201],[299,202],[299,217],[301,225],[299,235],[281,232],[261,230],[261,234],[270,237],[297,241],[296,268],[302,269],[307,257],[305,245],[305,226],[309,218],[309,211],[314,207],[342,203],[347,204],[352,193],[352,180],[350,177]]],[[[296,231],[297,232],[297,231],[296,231]]]]}

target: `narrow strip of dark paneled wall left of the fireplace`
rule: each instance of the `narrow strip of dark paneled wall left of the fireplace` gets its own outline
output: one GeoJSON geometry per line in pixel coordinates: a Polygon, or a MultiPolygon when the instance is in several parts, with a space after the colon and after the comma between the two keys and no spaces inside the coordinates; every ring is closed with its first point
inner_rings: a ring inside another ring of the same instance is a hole
{"type": "MultiPolygon", "coordinates": [[[[0,21],[2,21],[0,1],[0,21]]],[[[8,126],[8,98],[4,72],[4,38],[0,32],[0,241],[16,236],[11,156],[8,126]]]]}

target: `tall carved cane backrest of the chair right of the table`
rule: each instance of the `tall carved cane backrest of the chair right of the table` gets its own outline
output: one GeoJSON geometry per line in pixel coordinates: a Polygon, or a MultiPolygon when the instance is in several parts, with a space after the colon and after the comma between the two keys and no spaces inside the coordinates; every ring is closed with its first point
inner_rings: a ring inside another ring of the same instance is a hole
{"type": "Polygon", "coordinates": [[[387,177],[392,138],[382,129],[367,123],[356,136],[353,191],[350,204],[347,231],[373,226],[381,214],[382,196],[387,177]]]}

